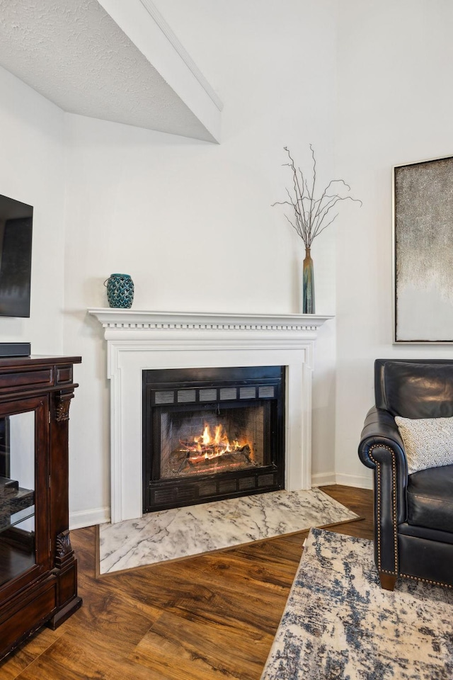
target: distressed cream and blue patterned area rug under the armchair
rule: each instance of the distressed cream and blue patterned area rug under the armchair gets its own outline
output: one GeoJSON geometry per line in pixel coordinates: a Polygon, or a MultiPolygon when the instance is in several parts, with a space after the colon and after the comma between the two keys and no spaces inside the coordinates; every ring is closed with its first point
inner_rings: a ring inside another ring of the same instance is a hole
{"type": "Polygon", "coordinates": [[[261,680],[452,678],[453,591],[384,591],[371,541],[311,529],[261,680]]]}

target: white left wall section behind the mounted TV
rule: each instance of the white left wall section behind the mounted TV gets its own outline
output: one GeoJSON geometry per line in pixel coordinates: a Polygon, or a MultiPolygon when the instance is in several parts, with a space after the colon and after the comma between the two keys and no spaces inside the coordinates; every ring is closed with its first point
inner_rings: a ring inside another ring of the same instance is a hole
{"type": "Polygon", "coordinates": [[[30,318],[0,317],[1,342],[62,353],[64,115],[0,68],[0,193],[33,205],[30,318]]]}

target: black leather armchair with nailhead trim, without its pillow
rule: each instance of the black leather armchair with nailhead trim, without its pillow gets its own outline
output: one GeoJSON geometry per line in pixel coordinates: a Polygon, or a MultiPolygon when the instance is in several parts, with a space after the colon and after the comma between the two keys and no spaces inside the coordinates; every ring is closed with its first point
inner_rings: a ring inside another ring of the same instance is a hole
{"type": "Polygon", "coordinates": [[[453,361],[377,359],[374,393],[359,457],[374,470],[374,560],[381,585],[393,590],[397,577],[406,577],[452,588],[453,465],[408,475],[395,416],[453,416],[453,361]]]}

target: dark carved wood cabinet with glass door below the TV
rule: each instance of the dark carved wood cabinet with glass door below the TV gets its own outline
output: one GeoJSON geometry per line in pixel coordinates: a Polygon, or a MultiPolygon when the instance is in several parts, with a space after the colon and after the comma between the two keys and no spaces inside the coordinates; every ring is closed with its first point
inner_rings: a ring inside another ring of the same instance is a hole
{"type": "Polygon", "coordinates": [[[81,606],[68,425],[79,356],[0,358],[0,658],[81,606]]]}

